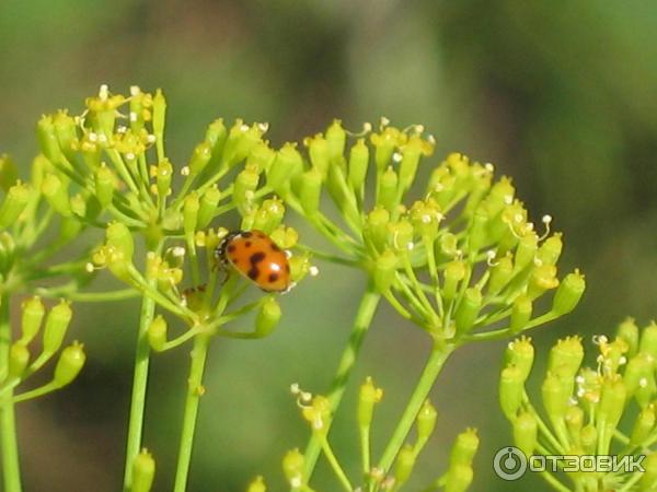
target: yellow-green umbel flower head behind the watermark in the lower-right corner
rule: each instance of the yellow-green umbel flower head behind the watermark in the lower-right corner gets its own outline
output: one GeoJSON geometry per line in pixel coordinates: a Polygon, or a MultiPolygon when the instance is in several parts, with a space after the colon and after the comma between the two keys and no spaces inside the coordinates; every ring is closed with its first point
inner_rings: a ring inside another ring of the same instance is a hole
{"type": "Polygon", "coordinates": [[[592,366],[583,366],[579,337],[567,337],[551,349],[541,386],[542,411],[525,389],[534,359],[531,340],[522,337],[509,343],[499,401],[515,444],[527,456],[572,458],[557,464],[564,475],[543,475],[558,490],[654,490],[657,325],[639,330],[627,318],[615,338],[595,336],[593,343],[592,366]],[[591,456],[609,459],[598,459],[596,467],[589,461],[588,472],[574,465],[585,461],[573,458],[591,456]],[[610,461],[613,457],[616,462],[610,461]],[[569,484],[561,483],[562,478],[569,484]]]}

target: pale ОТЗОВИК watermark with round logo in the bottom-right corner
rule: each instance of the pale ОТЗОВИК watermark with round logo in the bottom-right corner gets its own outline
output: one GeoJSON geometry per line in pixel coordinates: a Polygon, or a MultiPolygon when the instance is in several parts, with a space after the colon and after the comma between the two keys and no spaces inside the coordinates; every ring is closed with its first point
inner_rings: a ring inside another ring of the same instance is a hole
{"type": "Polygon", "coordinates": [[[493,469],[497,477],[512,481],[529,471],[565,472],[625,472],[645,471],[642,465],[645,456],[610,455],[532,455],[525,456],[515,446],[499,449],[493,458],[493,469]]]}

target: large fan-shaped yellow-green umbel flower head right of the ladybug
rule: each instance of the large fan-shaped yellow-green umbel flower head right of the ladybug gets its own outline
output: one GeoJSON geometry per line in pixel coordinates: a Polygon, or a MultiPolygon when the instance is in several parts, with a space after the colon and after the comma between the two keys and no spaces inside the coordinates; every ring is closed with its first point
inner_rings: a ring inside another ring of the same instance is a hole
{"type": "Polygon", "coordinates": [[[563,239],[550,232],[552,219],[543,216],[545,232],[537,231],[511,180],[494,180],[491,164],[459,153],[418,183],[435,148],[423,132],[384,119],[378,131],[366,125],[354,136],[336,120],[304,140],[306,156],[292,144],[276,152],[267,183],[339,251],[318,256],[364,269],[376,291],[437,341],[507,337],[570,312],[585,281],[577,270],[560,280],[563,239]],[[323,191],[341,223],[320,207],[323,191]],[[550,291],[552,307],[535,315],[550,291]]]}

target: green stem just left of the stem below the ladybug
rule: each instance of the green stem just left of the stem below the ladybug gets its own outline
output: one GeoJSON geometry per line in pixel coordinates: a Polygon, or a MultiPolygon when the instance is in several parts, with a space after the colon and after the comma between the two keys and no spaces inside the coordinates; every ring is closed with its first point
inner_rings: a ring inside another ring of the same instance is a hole
{"type": "MultiPolygon", "coordinates": [[[[158,246],[157,250],[160,250],[158,246]]],[[[150,288],[157,288],[157,280],[148,281],[150,288]]],[[[150,344],[148,341],[148,327],[153,320],[155,301],[143,294],[141,312],[139,314],[139,330],[137,333],[137,348],[135,350],[135,370],[132,376],[132,396],[130,399],[130,417],[128,422],[128,437],[126,440],[126,462],[124,471],[124,491],[128,492],[132,484],[132,464],[141,449],[141,435],[143,432],[143,412],[146,408],[146,390],[148,386],[148,366],[150,362],[150,344]]]]}

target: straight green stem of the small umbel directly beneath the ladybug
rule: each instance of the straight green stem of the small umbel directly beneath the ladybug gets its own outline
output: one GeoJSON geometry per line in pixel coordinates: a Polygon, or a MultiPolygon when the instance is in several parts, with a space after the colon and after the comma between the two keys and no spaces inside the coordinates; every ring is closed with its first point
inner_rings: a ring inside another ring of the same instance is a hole
{"type": "Polygon", "coordinates": [[[192,349],[192,364],[189,366],[189,378],[187,388],[187,398],[185,400],[185,414],[183,417],[183,432],[178,449],[177,468],[175,471],[174,492],[185,492],[187,489],[187,475],[189,473],[189,462],[192,461],[192,446],[194,444],[194,431],[196,429],[196,418],[198,414],[198,400],[200,399],[203,388],[203,373],[210,344],[209,335],[199,335],[194,339],[194,349],[192,349]]]}

